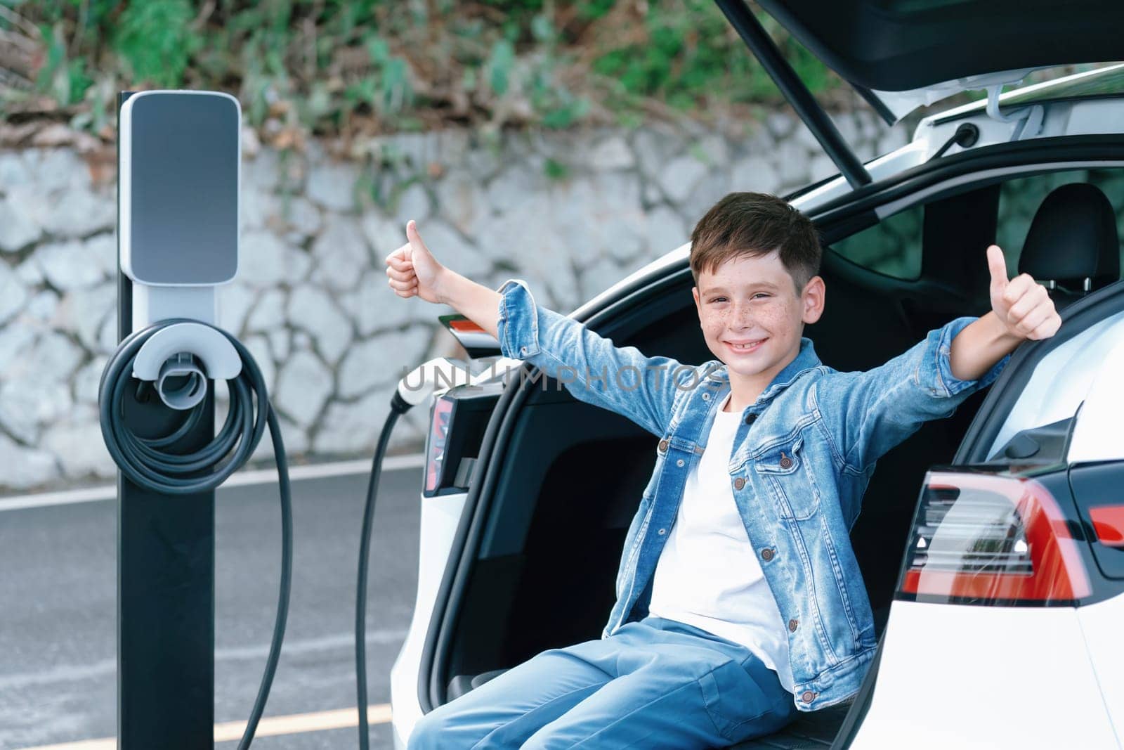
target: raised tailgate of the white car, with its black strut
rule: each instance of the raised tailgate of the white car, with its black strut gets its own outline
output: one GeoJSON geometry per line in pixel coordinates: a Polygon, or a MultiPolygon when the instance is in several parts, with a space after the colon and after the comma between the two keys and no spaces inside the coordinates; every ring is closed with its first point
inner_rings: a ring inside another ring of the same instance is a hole
{"type": "MultiPolygon", "coordinates": [[[[716,0],[852,189],[872,180],[808,87],[751,12],[747,0],[716,0]]],[[[966,90],[988,91],[988,112],[1033,136],[1041,108],[999,112],[1004,85],[1040,69],[1117,57],[1124,7],[1108,0],[759,0],[834,70],[888,125],[966,90]]],[[[964,144],[961,144],[964,145],[964,144]]]]}

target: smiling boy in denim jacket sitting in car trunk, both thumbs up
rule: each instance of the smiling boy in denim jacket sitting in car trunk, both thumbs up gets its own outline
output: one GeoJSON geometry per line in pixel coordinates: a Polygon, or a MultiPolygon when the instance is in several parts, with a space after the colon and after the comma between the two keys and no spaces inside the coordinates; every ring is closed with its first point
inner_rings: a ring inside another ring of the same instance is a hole
{"type": "Polygon", "coordinates": [[[661,437],[601,638],[439,706],[410,748],[724,747],[851,698],[876,639],[849,531],[876,460],[1061,324],[1042,286],[1007,280],[992,245],[990,313],[837,372],[803,337],[824,308],[814,225],[737,192],[691,234],[691,293],[717,360],[688,367],[614,346],[519,280],[497,292],[443,268],[414,222],[407,237],[387,256],[396,293],[452,306],[546,374],[572,368],[577,398],[661,437]]]}

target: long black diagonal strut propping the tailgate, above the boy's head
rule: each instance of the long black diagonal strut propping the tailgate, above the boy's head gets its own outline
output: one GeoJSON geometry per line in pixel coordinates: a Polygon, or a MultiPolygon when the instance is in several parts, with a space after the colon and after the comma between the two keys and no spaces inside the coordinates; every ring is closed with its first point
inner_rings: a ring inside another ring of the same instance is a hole
{"type": "Polygon", "coordinates": [[[808,87],[804,84],[800,76],[796,74],[792,66],[788,64],[780,54],[780,49],[765,33],[760,21],[754,18],[753,12],[745,6],[744,0],[715,0],[726,19],[731,22],[737,34],[745,42],[745,45],[753,52],[753,55],[765,69],[769,76],[785,94],[788,102],[792,105],[796,114],[800,116],[804,124],[808,126],[816,141],[824,147],[840,172],[846,178],[852,188],[861,188],[870,184],[870,173],[862,165],[859,157],[851,151],[851,146],[840,134],[839,128],[832,123],[824,108],[819,106],[808,87]]]}

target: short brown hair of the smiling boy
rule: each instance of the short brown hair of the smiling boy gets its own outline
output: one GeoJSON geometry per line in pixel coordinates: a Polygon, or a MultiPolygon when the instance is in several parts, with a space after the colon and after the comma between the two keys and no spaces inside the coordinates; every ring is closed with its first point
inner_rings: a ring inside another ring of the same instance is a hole
{"type": "Polygon", "coordinates": [[[819,273],[819,235],[807,216],[777,196],[732,192],[706,213],[691,233],[691,275],[714,273],[726,260],[738,255],[765,255],[780,250],[780,262],[804,290],[819,273]]]}

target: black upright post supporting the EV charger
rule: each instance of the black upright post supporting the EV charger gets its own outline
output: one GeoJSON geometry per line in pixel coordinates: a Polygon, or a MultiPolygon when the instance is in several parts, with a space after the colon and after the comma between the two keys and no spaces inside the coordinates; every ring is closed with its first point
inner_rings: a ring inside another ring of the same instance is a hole
{"type": "MultiPolygon", "coordinates": [[[[118,96],[118,123],[130,94],[118,96]]],[[[120,130],[117,168],[120,204],[120,130]]],[[[118,247],[118,341],[133,332],[132,300],[118,247]]],[[[203,418],[166,450],[193,451],[215,436],[214,381],[208,386],[203,418]]],[[[128,389],[125,421],[138,435],[166,435],[183,421],[155,394],[139,399],[128,389]]],[[[117,496],[117,747],[212,748],[215,493],[161,495],[118,471],[117,496]]]]}

